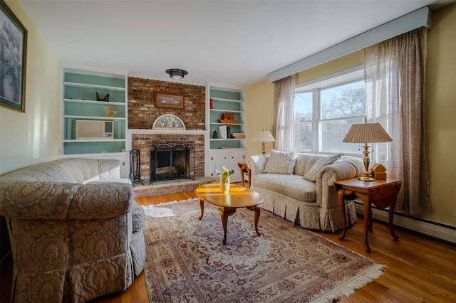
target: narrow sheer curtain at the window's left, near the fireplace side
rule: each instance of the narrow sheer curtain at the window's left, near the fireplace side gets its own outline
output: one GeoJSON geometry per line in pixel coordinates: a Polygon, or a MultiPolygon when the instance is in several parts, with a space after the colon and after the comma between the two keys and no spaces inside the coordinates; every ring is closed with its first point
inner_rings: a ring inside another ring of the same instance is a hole
{"type": "Polygon", "coordinates": [[[276,142],[274,149],[279,151],[293,150],[293,102],[294,76],[274,82],[274,112],[272,123],[276,142]]]}

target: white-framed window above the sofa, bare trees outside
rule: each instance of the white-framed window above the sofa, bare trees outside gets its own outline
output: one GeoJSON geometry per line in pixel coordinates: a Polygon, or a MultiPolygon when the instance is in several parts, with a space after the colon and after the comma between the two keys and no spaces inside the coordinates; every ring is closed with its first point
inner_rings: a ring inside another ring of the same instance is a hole
{"type": "Polygon", "coordinates": [[[359,146],[342,142],[351,124],[366,117],[363,69],[304,83],[295,89],[294,150],[359,156],[359,146]]]}

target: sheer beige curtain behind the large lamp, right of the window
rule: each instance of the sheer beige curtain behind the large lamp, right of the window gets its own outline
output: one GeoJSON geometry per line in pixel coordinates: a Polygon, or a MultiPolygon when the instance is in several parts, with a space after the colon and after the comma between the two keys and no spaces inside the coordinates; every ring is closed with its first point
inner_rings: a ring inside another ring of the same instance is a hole
{"type": "Polygon", "coordinates": [[[364,49],[368,122],[380,122],[393,142],[375,144],[386,155],[388,177],[400,179],[396,211],[430,209],[427,169],[425,65],[427,28],[364,49]]]}

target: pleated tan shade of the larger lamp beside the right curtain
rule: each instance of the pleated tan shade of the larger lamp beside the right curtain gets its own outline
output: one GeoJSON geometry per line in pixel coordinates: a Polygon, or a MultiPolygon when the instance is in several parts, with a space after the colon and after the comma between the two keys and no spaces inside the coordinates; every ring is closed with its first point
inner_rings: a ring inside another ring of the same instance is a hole
{"type": "Polygon", "coordinates": [[[380,123],[363,123],[353,124],[348,130],[342,142],[350,143],[379,143],[391,142],[390,135],[385,132],[385,129],[380,123]]]}

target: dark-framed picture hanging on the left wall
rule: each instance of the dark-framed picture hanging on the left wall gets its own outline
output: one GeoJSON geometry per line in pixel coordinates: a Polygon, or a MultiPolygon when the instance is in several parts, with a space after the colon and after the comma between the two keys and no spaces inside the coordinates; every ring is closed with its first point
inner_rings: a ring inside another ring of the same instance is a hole
{"type": "Polygon", "coordinates": [[[0,0],[0,105],[26,112],[27,29],[0,0]]]}

